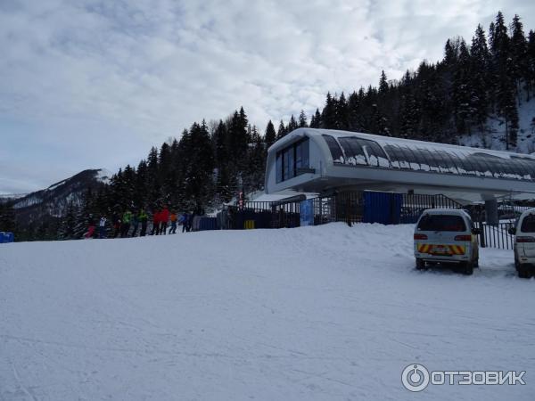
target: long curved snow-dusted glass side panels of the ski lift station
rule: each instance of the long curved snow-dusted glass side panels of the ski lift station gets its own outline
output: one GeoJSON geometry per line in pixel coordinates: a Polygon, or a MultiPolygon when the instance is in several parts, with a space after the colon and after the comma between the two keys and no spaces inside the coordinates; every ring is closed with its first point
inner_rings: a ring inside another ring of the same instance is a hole
{"type": "MultiPolygon", "coordinates": [[[[535,160],[522,156],[500,157],[484,151],[439,146],[409,147],[379,143],[358,136],[323,135],[334,164],[369,166],[535,181],[535,160]]],[[[387,139],[385,139],[388,141],[387,139]]]]}

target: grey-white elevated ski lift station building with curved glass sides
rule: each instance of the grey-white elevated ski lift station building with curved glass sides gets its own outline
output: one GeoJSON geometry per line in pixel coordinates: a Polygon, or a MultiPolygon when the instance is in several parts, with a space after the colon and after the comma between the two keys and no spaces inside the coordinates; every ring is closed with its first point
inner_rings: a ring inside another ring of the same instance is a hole
{"type": "Polygon", "coordinates": [[[299,128],[268,149],[267,193],[380,191],[463,204],[535,197],[535,157],[380,135],[299,128]]]}

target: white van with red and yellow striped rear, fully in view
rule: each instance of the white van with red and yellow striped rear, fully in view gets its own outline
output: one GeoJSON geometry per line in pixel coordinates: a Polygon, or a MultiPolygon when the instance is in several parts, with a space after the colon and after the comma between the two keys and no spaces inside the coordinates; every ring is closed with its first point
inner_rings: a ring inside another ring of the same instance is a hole
{"type": "Polygon", "coordinates": [[[479,267],[479,246],[470,215],[461,209],[426,209],[415,228],[416,269],[456,264],[464,274],[479,267]]]}

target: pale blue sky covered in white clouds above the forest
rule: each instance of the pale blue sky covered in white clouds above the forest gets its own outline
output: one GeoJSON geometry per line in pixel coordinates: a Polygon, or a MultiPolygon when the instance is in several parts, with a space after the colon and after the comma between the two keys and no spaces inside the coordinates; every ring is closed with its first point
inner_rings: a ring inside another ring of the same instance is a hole
{"type": "Polygon", "coordinates": [[[498,10],[535,29],[531,0],[0,0],[0,193],[136,165],[242,105],[261,130],[310,113],[498,10]]]}

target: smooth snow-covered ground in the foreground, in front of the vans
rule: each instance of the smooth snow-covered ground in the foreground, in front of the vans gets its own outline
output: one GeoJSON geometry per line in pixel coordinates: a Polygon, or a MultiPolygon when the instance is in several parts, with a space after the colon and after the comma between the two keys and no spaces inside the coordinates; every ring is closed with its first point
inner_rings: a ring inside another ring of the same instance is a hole
{"type": "Polygon", "coordinates": [[[417,272],[412,225],[0,246],[0,399],[533,400],[535,281],[510,251],[417,272]],[[430,370],[525,386],[401,386],[430,370]]]}

